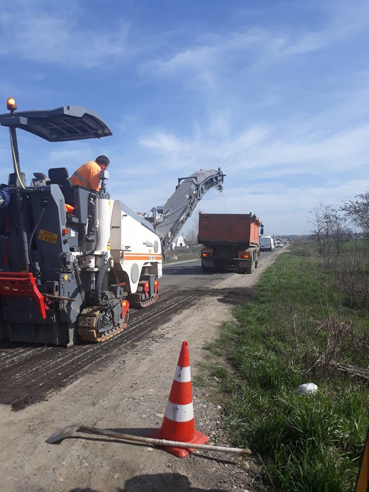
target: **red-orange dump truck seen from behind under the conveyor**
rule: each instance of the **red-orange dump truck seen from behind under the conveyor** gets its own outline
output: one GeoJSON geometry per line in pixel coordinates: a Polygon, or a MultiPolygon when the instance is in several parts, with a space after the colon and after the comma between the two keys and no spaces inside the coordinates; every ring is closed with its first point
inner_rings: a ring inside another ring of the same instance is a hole
{"type": "Polygon", "coordinates": [[[203,272],[220,268],[236,268],[239,273],[252,273],[257,268],[263,226],[256,215],[199,214],[198,243],[202,244],[203,272]]]}

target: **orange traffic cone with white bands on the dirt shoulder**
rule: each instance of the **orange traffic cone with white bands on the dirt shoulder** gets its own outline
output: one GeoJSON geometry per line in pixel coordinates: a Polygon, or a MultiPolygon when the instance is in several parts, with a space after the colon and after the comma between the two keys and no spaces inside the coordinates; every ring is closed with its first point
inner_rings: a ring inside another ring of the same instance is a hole
{"type": "MultiPolygon", "coordinates": [[[[182,343],[178,364],[174,373],[172,389],[161,427],[151,432],[149,437],[197,444],[204,444],[209,441],[209,437],[195,429],[190,355],[187,341],[182,343]]],[[[191,448],[181,449],[172,446],[163,446],[163,449],[179,458],[184,458],[194,451],[191,448]]]]}

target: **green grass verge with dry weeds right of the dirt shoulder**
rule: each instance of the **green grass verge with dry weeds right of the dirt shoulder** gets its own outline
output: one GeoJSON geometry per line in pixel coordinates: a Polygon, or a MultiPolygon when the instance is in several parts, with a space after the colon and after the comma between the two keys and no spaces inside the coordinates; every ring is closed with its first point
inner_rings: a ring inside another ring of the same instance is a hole
{"type": "Polygon", "coordinates": [[[278,490],[351,491],[369,423],[367,387],[314,362],[333,343],[336,360],[367,370],[367,312],[343,304],[333,276],[301,249],[280,255],[256,291],[210,347],[227,359],[212,374],[229,395],[231,438],[261,455],[278,490]],[[318,392],[298,395],[310,381],[318,392]]]}

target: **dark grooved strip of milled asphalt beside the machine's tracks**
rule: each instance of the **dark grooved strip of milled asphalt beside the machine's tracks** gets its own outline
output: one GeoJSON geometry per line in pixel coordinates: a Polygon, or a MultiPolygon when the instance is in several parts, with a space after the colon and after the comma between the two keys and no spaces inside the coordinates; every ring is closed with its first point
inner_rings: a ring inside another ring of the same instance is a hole
{"type": "Polygon", "coordinates": [[[103,344],[71,348],[27,343],[0,345],[0,404],[19,410],[45,399],[49,392],[79,379],[87,368],[93,371],[130,350],[132,343],[188,308],[200,295],[191,291],[161,295],[160,301],[149,308],[133,310],[127,329],[103,344]]]}

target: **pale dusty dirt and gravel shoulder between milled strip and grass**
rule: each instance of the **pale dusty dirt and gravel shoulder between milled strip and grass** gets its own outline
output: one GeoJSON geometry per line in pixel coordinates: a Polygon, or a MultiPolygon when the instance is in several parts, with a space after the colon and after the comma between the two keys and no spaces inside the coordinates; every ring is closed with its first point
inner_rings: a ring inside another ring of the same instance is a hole
{"type": "MultiPolygon", "coordinates": [[[[199,296],[195,305],[133,342],[129,351],[122,347],[112,361],[107,352],[103,370],[90,367],[83,377],[49,395],[48,400],[19,412],[1,405],[2,490],[254,490],[258,469],[252,460],[248,468],[231,455],[211,459],[203,452],[178,459],[159,449],[103,438],[69,438],[59,445],[48,445],[45,440],[57,428],[74,422],[138,435],[159,427],[181,342],[189,342],[194,378],[206,357],[202,347],[214,339],[220,323],[231,318],[229,292],[252,286],[278,254],[265,258],[253,275],[224,276],[216,285],[219,296],[199,296]]],[[[194,387],[194,412],[198,430],[212,441],[226,442],[221,408],[206,387],[194,387]]]]}

